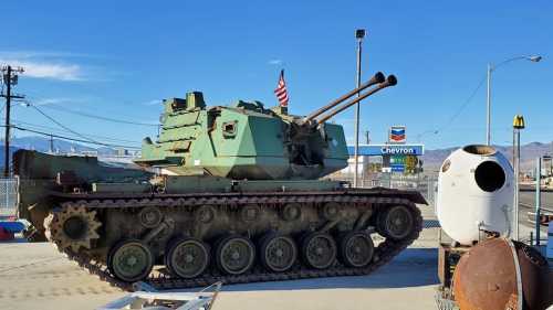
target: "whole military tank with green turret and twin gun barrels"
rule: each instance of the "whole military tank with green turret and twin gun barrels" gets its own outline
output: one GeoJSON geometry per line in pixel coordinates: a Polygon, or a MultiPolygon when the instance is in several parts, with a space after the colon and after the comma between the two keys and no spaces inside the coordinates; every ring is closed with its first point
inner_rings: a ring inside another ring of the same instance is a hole
{"type": "Polygon", "coordinates": [[[327,120],[396,83],[377,73],[306,117],[260,101],[208,107],[199,92],[166,99],[158,139],[135,161],[148,172],[18,151],[21,214],[125,289],[369,274],[417,238],[426,201],[325,179],[348,159],[327,120]]]}

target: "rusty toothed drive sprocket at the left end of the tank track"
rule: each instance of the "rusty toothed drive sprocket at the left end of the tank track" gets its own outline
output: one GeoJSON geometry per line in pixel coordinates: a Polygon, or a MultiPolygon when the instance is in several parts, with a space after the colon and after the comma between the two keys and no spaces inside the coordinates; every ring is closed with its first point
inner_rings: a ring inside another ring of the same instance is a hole
{"type": "Polygon", "coordinates": [[[44,218],[46,238],[55,243],[60,250],[71,248],[77,253],[81,248],[91,248],[91,243],[100,238],[96,211],[84,206],[70,205],[55,210],[44,218]]]}

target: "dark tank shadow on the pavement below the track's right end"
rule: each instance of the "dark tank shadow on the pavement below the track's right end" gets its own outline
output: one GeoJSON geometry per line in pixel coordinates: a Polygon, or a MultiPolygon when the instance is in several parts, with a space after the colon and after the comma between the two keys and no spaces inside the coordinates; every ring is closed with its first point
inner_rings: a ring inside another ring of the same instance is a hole
{"type": "MultiPolygon", "coordinates": [[[[408,248],[371,275],[223,286],[223,291],[408,288],[438,284],[438,249],[408,248]]],[[[194,291],[194,290],[190,290],[194,291]]]]}

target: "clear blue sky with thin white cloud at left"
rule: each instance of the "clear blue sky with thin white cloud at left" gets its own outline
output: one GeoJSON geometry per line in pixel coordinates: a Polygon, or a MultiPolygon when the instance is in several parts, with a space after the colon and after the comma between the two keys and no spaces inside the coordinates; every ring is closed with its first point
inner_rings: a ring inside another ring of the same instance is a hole
{"type": "MultiPolygon", "coordinates": [[[[63,109],[155,124],[158,101],[187,90],[202,90],[208,105],[273,106],[281,67],[291,113],[305,115],[355,86],[356,28],[368,31],[364,79],[376,71],[399,79],[363,105],[361,127],[374,142],[385,141],[390,125],[406,125],[407,139],[430,149],[484,142],[486,84],[460,108],[487,63],[529,54],[543,61],[494,72],[492,140],[510,143],[515,114],[526,118],[523,142],[553,137],[551,1],[4,1],[1,8],[9,31],[0,63],[28,71],[14,90],[96,140],[139,145],[156,128],[63,109]]],[[[12,117],[64,131],[29,107],[17,106],[12,117]]],[[[351,139],[353,109],[335,121],[351,139]]]]}

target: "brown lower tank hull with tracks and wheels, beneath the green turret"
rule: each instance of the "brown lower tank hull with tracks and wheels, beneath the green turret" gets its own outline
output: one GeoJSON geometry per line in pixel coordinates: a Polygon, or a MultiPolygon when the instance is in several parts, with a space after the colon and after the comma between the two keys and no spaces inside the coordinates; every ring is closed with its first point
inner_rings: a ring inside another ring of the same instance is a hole
{"type": "Polygon", "coordinates": [[[67,159],[14,158],[28,159],[18,165],[20,193],[28,196],[21,209],[38,231],[91,272],[128,290],[138,280],[184,288],[366,275],[417,238],[422,221],[416,204],[426,203],[418,192],[352,189],[338,181],[166,177],[64,183],[27,168],[36,164],[30,158],[56,165],[67,159]]]}

